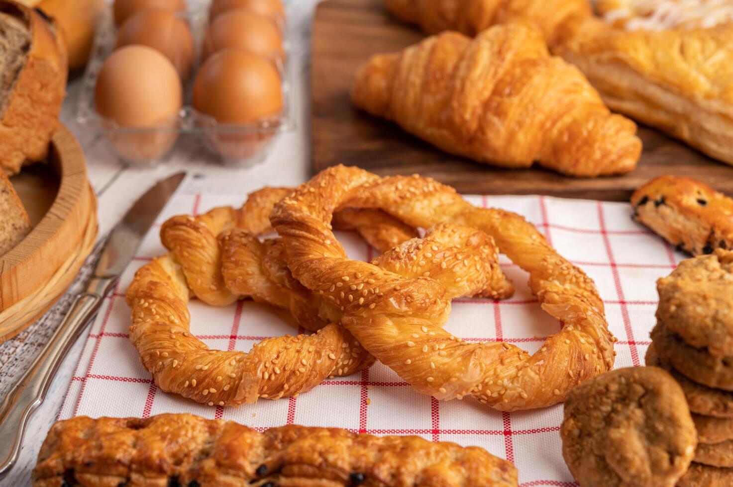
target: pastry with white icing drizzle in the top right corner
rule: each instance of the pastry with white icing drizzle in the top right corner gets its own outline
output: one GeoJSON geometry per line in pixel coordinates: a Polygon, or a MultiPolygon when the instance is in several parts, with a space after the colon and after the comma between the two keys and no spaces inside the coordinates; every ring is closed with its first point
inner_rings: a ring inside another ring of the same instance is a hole
{"type": "Polygon", "coordinates": [[[627,30],[696,29],[733,22],[730,0],[597,0],[603,20],[627,30]]]}

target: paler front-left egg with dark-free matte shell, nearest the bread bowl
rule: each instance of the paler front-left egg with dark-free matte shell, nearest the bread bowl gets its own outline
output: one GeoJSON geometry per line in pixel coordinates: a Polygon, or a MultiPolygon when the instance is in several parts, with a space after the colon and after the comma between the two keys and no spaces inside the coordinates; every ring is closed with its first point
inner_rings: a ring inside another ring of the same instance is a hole
{"type": "Polygon", "coordinates": [[[97,77],[95,107],[110,130],[108,138],[119,155],[144,161],[163,155],[177,138],[182,103],[181,81],[166,56],[144,45],[119,48],[108,57],[97,77]],[[157,127],[155,130],[126,130],[157,127]]]}

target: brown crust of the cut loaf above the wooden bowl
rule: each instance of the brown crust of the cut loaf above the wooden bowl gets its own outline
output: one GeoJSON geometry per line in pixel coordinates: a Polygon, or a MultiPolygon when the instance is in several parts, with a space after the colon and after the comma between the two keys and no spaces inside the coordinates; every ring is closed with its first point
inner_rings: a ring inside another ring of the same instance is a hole
{"type": "Polygon", "coordinates": [[[31,36],[26,64],[0,115],[0,166],[16,174],[48,155],[66,94],[67,57],[62,34],[50,19],[14,1],[0,1],[0,8],[20,16],[31,36]]]}

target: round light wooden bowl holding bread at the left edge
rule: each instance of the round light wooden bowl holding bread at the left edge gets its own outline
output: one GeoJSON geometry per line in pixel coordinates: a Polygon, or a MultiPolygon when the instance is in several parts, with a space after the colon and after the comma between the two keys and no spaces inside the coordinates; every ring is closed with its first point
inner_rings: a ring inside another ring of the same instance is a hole
{"type": "Polygon", "coordinates": [[[34,227],[0,256],[0,343],[64,294],[97,237],[97,200],[84,152],[67,127],[54,134],[47,164],[26,168],[11,180],[34,227]]]}

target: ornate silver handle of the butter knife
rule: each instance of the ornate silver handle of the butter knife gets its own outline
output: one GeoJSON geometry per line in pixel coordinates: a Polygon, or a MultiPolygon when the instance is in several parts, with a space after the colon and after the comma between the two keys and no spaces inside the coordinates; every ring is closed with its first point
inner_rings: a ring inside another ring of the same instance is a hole
{"type": "Polygon", "coordinates": [[[99,294],[78,294],[54,335],[0,405],[0,475],[18,459],[26,423],[43,403],[59,365],[101,304],[99,294]]]}

